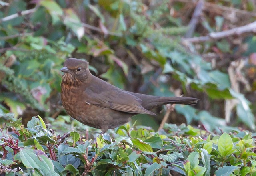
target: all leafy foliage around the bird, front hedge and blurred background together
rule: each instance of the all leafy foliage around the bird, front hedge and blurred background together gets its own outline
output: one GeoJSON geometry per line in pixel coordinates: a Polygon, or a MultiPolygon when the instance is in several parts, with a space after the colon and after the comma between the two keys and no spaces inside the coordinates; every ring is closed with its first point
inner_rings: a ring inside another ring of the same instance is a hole
{"type": "MultiPolygon", "coordinates": [[[[227,126],[256,129],[254,33],[186,42],[195,6],[190,0],[0,1],[0,171],[256,175],[255,134],[227,126]],[[172,115],[203,129],[166,124],[154,132],[126,124],[88,140],[88,130],[90,138],[97,131],[72,121],[60,104],[66,57],[86,58],[92,72],[129,91],[200,98],[198,107],[176,105],[179,115],[172,115]],[[17,117],[32,117],[25,114],[30,109],[43,112],[48,127],[39,116],[24,127],[17,117]]],[[[249,24],[255,9],[253,1],[206,1],[193,35],[249,24]]]]}

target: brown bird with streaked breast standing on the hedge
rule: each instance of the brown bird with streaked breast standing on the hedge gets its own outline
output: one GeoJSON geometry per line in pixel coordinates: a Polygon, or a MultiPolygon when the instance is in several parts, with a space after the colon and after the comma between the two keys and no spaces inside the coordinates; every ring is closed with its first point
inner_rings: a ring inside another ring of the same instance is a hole
{"type": "Polygon", "coordinates": [[[136,114],[156,115],[149,111],[166,104],[196,105],[190,97],[158,97],[125,91],[92,75],[88,62],[70,58],[60,71],[61,100],[67,113],[81,123],[101,129],[104,134],[127,123],[136,114]]]}

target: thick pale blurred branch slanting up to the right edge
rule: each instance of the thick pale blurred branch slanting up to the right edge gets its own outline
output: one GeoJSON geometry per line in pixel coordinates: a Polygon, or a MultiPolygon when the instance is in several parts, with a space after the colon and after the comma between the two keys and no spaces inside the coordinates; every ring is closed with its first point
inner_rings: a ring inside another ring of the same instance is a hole
{"type": "Polygon", "coordinates": [[[256,32],[256,21],[250,24],[246,24],[244,26],[230,29],[230,30],[221,31],[221,32],[212,32],[208,36],[183,38],[182,42],[186,44],[188,42],[205,42],[209,40],[218,40],[220,38],[225,38],[232,35],[240,35],[246,32],[256,32]]]}

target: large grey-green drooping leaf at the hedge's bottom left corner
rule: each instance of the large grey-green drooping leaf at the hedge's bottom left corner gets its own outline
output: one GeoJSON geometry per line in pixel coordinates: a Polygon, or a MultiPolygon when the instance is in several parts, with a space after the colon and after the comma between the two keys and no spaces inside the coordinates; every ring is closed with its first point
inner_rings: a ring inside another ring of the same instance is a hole
{"type": "Polygon", "coordinates": [[[54,173],[52,160],[42,150],[20,148],[20,159],[26,168],[38,169],[44,175],[54,173]]]}

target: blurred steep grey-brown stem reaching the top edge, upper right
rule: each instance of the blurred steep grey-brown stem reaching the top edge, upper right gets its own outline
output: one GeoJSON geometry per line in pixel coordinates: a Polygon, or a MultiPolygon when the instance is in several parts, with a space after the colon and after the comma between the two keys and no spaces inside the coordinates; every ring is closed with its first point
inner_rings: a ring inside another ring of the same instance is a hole
{"type": "Polygon", "coordinates": [[[198,24],[199,17],[202,13],[203,8],[204,8],[204,0],[199,0],[197,5],[196,5],[196,8],[194,10],[194,13],[192,15],[192,18],[191,18],[191,20],[188,24],[189,29],[185,34],[186,38],[189,38],[189,37],[193,36],[196,25],[198,24]]]}

